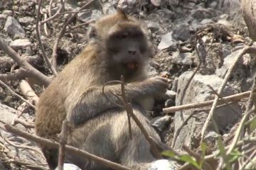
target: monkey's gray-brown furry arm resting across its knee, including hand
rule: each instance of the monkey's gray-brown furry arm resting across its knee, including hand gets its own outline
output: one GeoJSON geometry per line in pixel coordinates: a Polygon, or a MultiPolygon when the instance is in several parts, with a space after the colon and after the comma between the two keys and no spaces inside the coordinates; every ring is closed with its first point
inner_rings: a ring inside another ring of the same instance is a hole
{"type": "MultiPolygon", "coordinates": [[[[127,98],[133,102],[137,102],[142,98],[148,96],[159,96],[164,94],[168,87],[168,82],[164,78],[153,78],[139,83],[131,83],[125,86],[125,92],[127,98]]],[[[109,109],[117,108],[114,103],[119,103],[118,99],[113,96],[114,94],[121,94],[121,85],[112,85],[105,87],[105,96],[102,92],[102,87],[92,87],[87,89],[75,106],[70,109],[68,119],[74,125],[80,125],[86,120],[93,118],[100,113],[103,113],[109,109]],[[110,100],[108,99],[110,98],[110,100]]]]}

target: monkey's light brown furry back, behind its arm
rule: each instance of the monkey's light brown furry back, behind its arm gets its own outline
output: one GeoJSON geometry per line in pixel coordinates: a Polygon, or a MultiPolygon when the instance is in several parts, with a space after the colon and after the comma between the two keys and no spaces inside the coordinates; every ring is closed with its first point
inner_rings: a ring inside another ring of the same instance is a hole
{"type": "MultiPolygon", "coordinates": [[[[75,57],[40,96],[36,106],[36,135],[55,138],[61,130],[68,109],[78,100],[80,91],[95,83],[95,73],[90,67],[88,57],[94,56],[95,50],[88,45],[75,57]]],[[[90,61],[90,60],[89,60],[90,61]]]]}

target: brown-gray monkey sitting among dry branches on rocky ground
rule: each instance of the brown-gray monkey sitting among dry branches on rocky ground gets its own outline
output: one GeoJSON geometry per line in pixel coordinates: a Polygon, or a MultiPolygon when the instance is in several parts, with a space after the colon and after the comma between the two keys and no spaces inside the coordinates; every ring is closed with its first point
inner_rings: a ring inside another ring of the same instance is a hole
{"type": "MultiPolygon", "coordinates": [[[[122,75],[126,82],[125,93],[134,113],[151,137],[161,143],[148,123],[146,110],[152,107],[153,98],[166,92],[169,84],[165,78],[149,78],[147,75],[149,58],[154,54],[146,29],[136,18],[117,11],[97,21],[88,36],[90,42],[85,49],[41,94],[36,106],[36,135],[58,140],[63,120],[67,118],[74,127],[68,132],[68,145],[88,149],[93,154],[128,166],[139,166],[142,165],[139,162],[153,160],[149,144],[133,121],[134,140],[127,140],[126,112],[111,102],[118,103],[112,93],[120,94],[120,85],[105,86],[105,94],[102,93],[105,83],[119,80],[122,75]],[[104,146],[109,146],[101,148],[101,140],[104,146]],[[129,158],[134,161],[129,162],[129,158]]],[[[50,169],[55,169],[58,149],[47,146],[41,146],[41,149],[50,169]]],[[[68,159],[81,169],[101,169],[93,162],[85,163],[74,158],[68,159]]]]}

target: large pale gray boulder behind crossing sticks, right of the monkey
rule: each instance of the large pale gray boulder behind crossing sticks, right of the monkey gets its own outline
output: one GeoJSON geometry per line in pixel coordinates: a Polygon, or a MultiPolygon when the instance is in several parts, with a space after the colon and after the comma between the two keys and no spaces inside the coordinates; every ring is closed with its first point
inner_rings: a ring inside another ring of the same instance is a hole
{"type": "MultiPolygon", "coordinates": [[[[181,96],[185,89],[183,89],[188,83],[188,79],[191,78],[193,72],[185,72],[181,74],[178,78],[178,89],[176,95],[176,106],[180,106],[181,104],[186,103],[197,103],[201,101],[208,101],[213,99],[213,92],[210,90],[208,85],[212,86],[213,89],[218,90],[220,84],[222,84],[223,79],[220,79],[216,75],[201,75],[196,74],[193,77],[188,89],[186,89],[186,94],[184,95],[183,101],[181,101],[181,96]]],[[[221,96],[229,96],[234,94],[234,89],[231,86],[226,86],[223,94],[221,96]]],[[[213,114],[213,118],[218,125],[220,130],[224,130],[228,125],[233,125],[235,120],[241,117],[242,111],[240,106],[237,103],[233,103],[230,106],[222,106],[217,108],[215,113],[213,114]],[[233,109],[230,108],[232,106],[233,109]]],[[[181,127],[183,120],[185,120],[188,115],[194,113],[195,110],[187,110],[187,111],[177,111],[174,115],[174,127],[175,133],[178,128],[181,127]]],[[[188,123],[183,126],[181,132],[179,133],[177,140],[175,142],[176,149],[181,149],[182,145],[189,146],[193,137],[196,137],[201,134],[201,129],[203,128],[203,124],[208,116],[208,111],[196,111],[193,115],[193,118],[188,120],[188,123]]],[[[213,125],[210,124],[208,130],[215,130],[213,125]]]]}

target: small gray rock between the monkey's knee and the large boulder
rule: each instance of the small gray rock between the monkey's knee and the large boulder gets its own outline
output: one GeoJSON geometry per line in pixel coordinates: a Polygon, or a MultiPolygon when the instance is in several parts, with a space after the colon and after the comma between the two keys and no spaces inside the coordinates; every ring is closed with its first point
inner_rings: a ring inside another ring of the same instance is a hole
{"type": "Polygon", "coordinates": [[[171,116],[170,115],[165,115],[162,117],[156,117],[152,119],[151,121],[151,126],[159,130],[159,132],[163,132],[166,127],[171,123],[171,116]]]}

